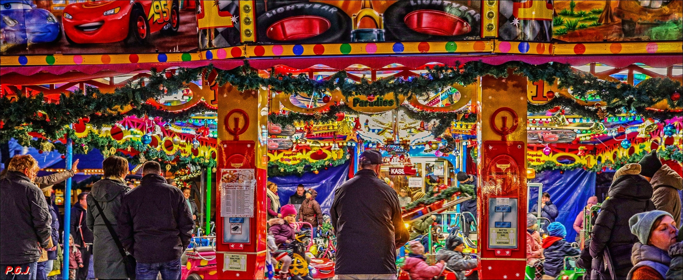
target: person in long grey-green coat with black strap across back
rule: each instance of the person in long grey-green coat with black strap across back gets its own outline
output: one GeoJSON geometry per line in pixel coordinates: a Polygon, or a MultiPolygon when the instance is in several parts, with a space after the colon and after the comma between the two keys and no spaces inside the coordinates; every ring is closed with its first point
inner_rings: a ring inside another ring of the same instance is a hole
{"type": "Polygon", "coordinates": [[[116,216],[121,208],[121,199],[130,191],[124,180],[128,174],[128,161],[112,155],[102,161],[102,169],[104,179],[92,185],[92,191],[86,199],[87,227],[94,234],[93,268],[97,279],[126,279],[129,277],[126,265],[102,215],[105,215],[112,228],[116,229],[116,216]],[[96,202],[103,213],[100,213],[96,202]]]}

